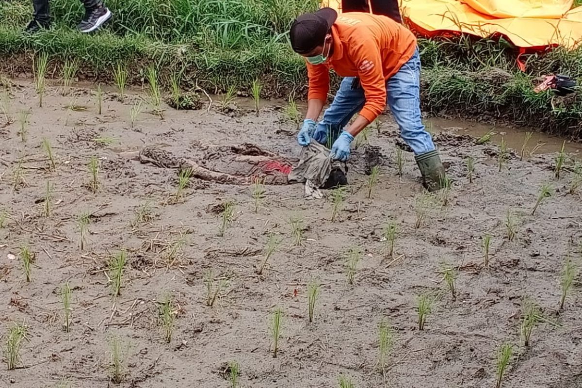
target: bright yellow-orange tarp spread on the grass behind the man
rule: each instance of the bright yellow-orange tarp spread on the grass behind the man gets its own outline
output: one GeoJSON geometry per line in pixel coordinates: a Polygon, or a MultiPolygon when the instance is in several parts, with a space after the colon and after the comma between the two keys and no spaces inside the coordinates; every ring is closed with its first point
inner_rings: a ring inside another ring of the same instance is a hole
{"type": "MultiPolygon", "coordinates": [[[[341,12],[340,0],[322,5],[341,12]]],[[[411,29],[436,36],[453,33],[489,37],[501,34],[521,48],[564,46],[582,42],[582,6],[573,0],[400,0],[411,29]]]]}

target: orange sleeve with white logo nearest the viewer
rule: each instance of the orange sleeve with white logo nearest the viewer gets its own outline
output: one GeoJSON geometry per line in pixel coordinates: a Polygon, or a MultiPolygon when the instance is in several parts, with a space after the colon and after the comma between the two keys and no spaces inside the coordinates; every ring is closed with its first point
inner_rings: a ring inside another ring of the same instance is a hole
{"type": "Polygon", "coordinates": [[[372,122],[386,108],[386,81],[380,48],[374,39],[360,34],[353,37],[349,47],[349,56],[358,69],[365,95],[365,105],[359,115],[372,122]]]}

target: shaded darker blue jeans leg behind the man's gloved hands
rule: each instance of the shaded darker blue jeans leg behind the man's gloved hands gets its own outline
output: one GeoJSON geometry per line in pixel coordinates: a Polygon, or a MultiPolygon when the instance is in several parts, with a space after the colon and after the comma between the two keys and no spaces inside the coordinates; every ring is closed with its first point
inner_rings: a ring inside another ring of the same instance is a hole
{"type": "Polygon", "coordinates": [[[313,135],[319,143],[331,147],[343,127],[364,107],[364,90],[362,88],[352,90],[353,80],[354,77],[345,77],[342,80],[333,102],[325,109],[324,117],[317,124],[313,135]]]}

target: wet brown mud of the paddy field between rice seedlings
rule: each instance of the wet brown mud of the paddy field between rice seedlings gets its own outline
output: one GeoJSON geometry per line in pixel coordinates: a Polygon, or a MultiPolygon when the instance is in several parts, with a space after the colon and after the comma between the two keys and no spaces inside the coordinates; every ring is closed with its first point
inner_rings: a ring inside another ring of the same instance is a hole
{"type": "MultiPolygon", "coordinates": [[[[303,186],[267,186],[254,213],[253,186],[193,179],[175,198],[176,170],[143,164],[128,155],[145,145],[167,144],[185,151],[196,142],[252,143],[295,158],[295,126],[281,109],[265,106],[260,116],[238,117],[201,111],[174,111],[165,118],[143,112],[133,128],[130,107],[105,95],[97,115],[90,90],[62,97],[49,87],[44,106],[29,83],[17,81],[12,112],[31,109],[27,139],[19,122],[0,128],[0,333],[2,345],[12,323],[28,326],[19,368],[0,369],[0,386],[56,387],[65,378],[77,388],[107,386],[228,387],[226,365],[240,364],[241,387],[332,387],[340,373],[356,387],[481,388],[495,385],[496,350],[520,342],[521,298],[531,297],[546,321],[534,330],[530,347],[509,366],[505,387],[573,388],[582,384],[580,280],[555,314],[560,270],[567,255],[580,264],[582,206],[567,194],[572,173],[553,177],[553,155],[519,161],[511,155],[498,172],[494,145],[474,145],[469,136],[439,133],[435,141],[455,180],[448,205],[431,198],[431,211],[416,229],[415,203],[423,195],[413,156],[405,153],[403,176],[396,173],[398,131],[388,116],[370,143],[383,161],[368,200],[365,156],[354,153],[347,198],[336,222],[330,200],[304,200],[303,186]],[[83,108],[70,111],[71,101],[83,108]],[[41,147],[52,144],[56,169],[41,147]],[[104,142],[112,138],[113,143],[104,142]],[[466,178],[464,158],[475,158],[475,179],[466,178]],[[97,156],[100,188],[88,190],[88,162],[97,156]],[[15,186],[15,174],[23,179],[15,186]],[[52,212],[43,214],[47,181],[54,184],[52,212]],[[545,182],[556,194],[535,216],[531,208],[545,182]],[[223,237],[221,204],[235,201],[232,226],[223,237]],[[151,214],[136,212],[151,204],[151,214]],[[517,236],[505,236],[508,209],[516,214],[517,236]],[[90,213],[87,244],[79,248],[77,219],[90,213]],[[290,218],[304,220],[303,247],[293,243],[290,218]],[[398,222],[396,258],[386,257],[382,230],[398,222]],[[262,275],[269,234],[282,239],[262,275]],[[491,265],[483,268],[481,237],[492,234],[491,265]],[[185,240],[185,245],[178,241],[185,240]],[[24,281],[19,247],[36,255],[31,282],[24,281]],[[363,251],[355,284],[346,282],[346,251],[363,251]],[[176,248],[176,249],[173,249],[176,248]],[[107,261],[127,251],[121,294],[110,294],[107,261]],[[441,266],[459,269],[457,297],[443,282],[441,266]],[[214,307],[205,305],[203,274],[214,270],[215,286],[226,281],[214,307]],[[307,283],[318,279],[321,296],[313,323],[307,320],[307,283]],[[73,289],[72,325],[63,330],[59,289],[73,289]],[[417,329],[416,297],[438,295],[424,330],[417,329]],[[159,330],[158,301],[171,294],[175,331],[165,343],[159,330]],[[284,311],[278,357],[272,357],[271,312],[284,311]],[[386,318],[394,333],[385,377],[378,372],[378,323],[386,318]],[[122,343],[123,380],[110,381],[111,339],[122,343]]],[[[242,105],[239,105],[242,106],[242,105]]],[[[0,119],[3,122],[3,119],[0,119]]]]}

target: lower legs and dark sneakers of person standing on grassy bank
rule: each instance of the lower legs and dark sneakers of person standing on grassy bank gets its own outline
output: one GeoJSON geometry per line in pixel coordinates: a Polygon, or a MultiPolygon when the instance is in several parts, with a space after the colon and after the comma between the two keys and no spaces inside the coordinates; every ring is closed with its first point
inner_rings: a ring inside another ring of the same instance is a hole
{"type": "MultiPolygon", "coordinates": [[[[111,19],[111,11],[101,0],[81,0],[81,2],[85,6],[85,16],[77,26],[81,33],[93,32],[111,19]]],[[[26,27],[26,32],[36,33],[40,29],[48,29],[50,25],[48,0],[33,0],[33,20],[26,27]]]]}

